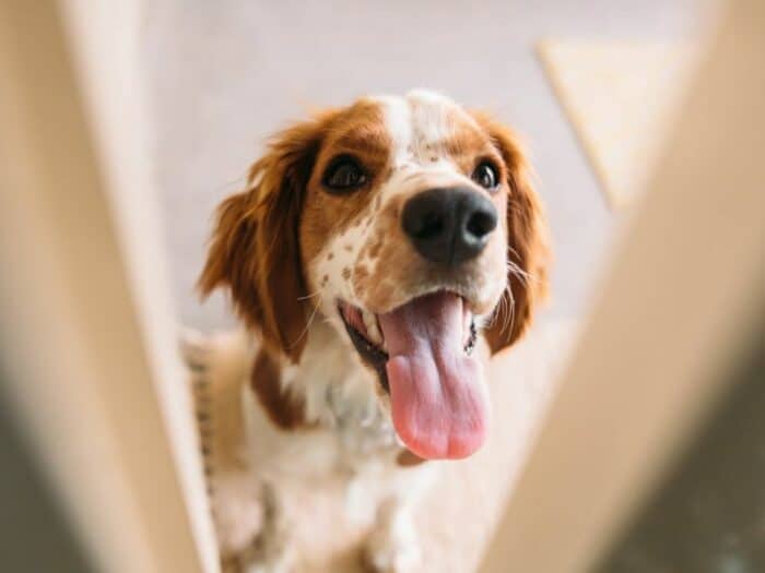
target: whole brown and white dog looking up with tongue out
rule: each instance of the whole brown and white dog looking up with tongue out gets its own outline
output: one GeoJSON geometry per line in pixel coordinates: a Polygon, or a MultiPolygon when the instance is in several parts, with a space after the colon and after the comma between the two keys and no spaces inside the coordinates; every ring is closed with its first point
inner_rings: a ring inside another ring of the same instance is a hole
{"type": "Polygon", "coordinates": [[[286,129],[248,182],[221,205],[200,278],[261,341],[244,479],[266,510],[233,535],[246,509],[219,500],[222,550],[289,571],[282,485],[334,474],[374,490],[369,563],[419,570],[411,511],[437,465],[420,462],[481,446],[482,362],[521,336],[546,287],[523,153],[486,115],[416,91],[286,129]]]}

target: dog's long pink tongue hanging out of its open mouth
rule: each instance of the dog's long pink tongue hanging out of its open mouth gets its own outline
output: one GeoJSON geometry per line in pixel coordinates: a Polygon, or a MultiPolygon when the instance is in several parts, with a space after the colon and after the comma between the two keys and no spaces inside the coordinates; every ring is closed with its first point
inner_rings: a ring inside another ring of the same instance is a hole
{"type": "Polygon", "coordinates": [[[379,315],[390,359],[393,425],[425,458],[466,457],[485,439],[483,369],[463,351],[462,299],[427,295],[379,315]]]}

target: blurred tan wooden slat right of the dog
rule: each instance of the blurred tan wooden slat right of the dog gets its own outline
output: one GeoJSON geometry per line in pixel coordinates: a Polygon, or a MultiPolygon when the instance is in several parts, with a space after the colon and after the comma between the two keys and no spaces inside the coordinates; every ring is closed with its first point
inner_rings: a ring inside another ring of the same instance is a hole
{"type": "Polygon", "coordinates": [[[587,571],[708,411],[765,293],[765,3],[730,3],[483,571],[587,571]]]}

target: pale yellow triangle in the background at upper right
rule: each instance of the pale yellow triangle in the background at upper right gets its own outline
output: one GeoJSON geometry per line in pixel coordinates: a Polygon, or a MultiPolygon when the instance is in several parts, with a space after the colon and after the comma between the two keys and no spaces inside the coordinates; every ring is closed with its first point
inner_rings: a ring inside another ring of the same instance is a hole
{"type": "Polygon", "coordinates": [[[540,43],[553,89],[612,207],[629,204],[647,182],[696,52],[687,44],[540,43]]]}

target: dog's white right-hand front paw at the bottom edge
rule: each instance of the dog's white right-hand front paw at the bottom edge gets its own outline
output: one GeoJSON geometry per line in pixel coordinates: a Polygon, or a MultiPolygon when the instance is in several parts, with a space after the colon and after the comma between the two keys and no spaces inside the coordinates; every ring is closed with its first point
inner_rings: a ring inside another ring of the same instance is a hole
{"type": "Polygon", "coordinates": [[[413,527],[376,530],[364,550],[364,563],[374,573],[420,571],[422,554],[413,527]]]}

